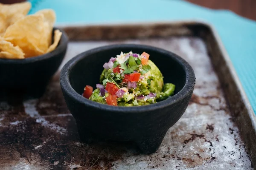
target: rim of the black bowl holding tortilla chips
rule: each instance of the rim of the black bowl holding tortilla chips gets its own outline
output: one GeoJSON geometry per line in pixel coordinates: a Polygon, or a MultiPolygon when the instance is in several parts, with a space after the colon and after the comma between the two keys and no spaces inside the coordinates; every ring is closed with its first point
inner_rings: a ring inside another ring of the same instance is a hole
{"type": "MultiPolygon", "coordinates": [[[[53,51],[40,56],[29,57],[25,59],[0,59],[0,62],[9,63],[9,64],[22,64],[22,63],[29,63],[29,62],[37,62],[39,60],[49,59],[51,57],[57,56],[58,54],[60,54],[65,50],[69,41],[67,34],[61,28],[53,27],[52,31],[57,29],[62,32],[62,35],[61,35],[61,40],[58,43],[58,46],[53,51]]],[[[52,34],[52,37],[54,37],[54,34],[52,34]]]]}

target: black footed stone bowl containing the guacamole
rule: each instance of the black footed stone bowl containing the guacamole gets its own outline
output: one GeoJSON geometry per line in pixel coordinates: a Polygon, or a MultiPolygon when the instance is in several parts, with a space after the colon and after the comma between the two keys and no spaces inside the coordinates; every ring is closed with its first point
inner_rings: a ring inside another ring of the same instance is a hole
{"type": "Polygon", "coordinates": [[[147,45],[108,45],[85,51],[61,70],[61,89],[67,106],[76,119],[83,142],[135,142],[144,153],[154,153],[167,130],[185,112],[195,85],[192,67],[172,52],[147,45]],[[85,85],[96,88],[102,65],[120,52],[150,54],[164,76],[164,82],[176,85],[175,95],[168,99],[134,107],[115,107],[84,98],[85,85]]]}

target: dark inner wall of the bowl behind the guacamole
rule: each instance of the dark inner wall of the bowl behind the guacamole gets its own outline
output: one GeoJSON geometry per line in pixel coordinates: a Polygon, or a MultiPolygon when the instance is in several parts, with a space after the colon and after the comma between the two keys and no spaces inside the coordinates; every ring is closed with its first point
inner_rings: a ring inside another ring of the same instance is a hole
{"type": "MultiPolygon", "coordinates": [[[[82,94],[84,87],[90,85],[93,89],[99,83],[99,77],[103,71],[103,64],[108,62],[111,57],[116,57],[120,52],[142,54],[144,51],[150,54],[149,59],[157,65],[164,76],[164,83],[173,83],[176,85],[175,94],[177,94],[185,85],[186,72],[180,60],[175,54],[169,55],[157,48],[139,45],[116,45],[113,48],[92,51],[86,57],[81,58],[76,65],[72,67],[69,74],[69,80],[72,88],[79,94],[82,94]]],[[[83,55],[83,54],[81,54],[83,55]]]]}

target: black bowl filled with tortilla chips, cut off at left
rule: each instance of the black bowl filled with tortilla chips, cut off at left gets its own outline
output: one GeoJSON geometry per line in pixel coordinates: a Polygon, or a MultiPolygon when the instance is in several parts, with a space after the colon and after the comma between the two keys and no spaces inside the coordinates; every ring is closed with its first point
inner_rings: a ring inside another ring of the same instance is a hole
{"type": "MultiPolygon", "coordinates": [[[[55,29],[53,28],[53,32],[55,29]]],[[[68,37],[62,31],[57,48],[47,54],[26,59],[0,59],[0,88],[26,94],[32,97],[41,96],[52,75],[58,70],[68,44],[68,37]]],[[[17,94],[16,94],[17,95],[17,94]]]]}

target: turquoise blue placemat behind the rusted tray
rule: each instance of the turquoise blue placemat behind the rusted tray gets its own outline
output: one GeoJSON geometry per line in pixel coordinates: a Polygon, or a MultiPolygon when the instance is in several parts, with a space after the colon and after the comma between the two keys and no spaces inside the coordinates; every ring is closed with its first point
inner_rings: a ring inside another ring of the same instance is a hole
{"type": "Polygon", "coordinates": [[[218,31],[256,113],[256,22],[182,0],[29,0],[30,14],[53,8],[57,24],[204,20],[218,31]]]}

